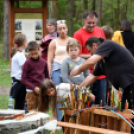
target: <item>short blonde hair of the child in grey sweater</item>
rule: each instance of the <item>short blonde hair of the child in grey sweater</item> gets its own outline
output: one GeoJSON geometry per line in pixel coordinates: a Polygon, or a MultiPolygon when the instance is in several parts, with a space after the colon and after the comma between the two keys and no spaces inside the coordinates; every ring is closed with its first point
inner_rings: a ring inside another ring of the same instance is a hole
{"type": "Polygon", "coordinates": [[[79,49],[81,49],[81,45],[80,45],[79,41],[74,38],[69,39],[69,41],[67,43],[67,47],[66,47],[67,52],[69,52],[70,47],[78,47],[79,49]]]}

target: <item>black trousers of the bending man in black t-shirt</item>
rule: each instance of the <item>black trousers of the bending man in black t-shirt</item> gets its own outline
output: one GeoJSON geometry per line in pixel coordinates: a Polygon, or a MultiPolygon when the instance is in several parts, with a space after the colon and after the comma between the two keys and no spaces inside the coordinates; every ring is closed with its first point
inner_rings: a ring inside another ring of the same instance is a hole
{"type": "MultiPolygon", "coordinates": [[[[124,89],[123,95],[122,95],[122,105],[121,109],[125,109],[126,100],[129,103],[129,109],[134,110],[134,83],[128,86],[124,89]]],[[[134,119],[132,119],[134,122],[134,119]]],[[[131,134],[134,134],[134,130],[131,129],[131,134]]]]}

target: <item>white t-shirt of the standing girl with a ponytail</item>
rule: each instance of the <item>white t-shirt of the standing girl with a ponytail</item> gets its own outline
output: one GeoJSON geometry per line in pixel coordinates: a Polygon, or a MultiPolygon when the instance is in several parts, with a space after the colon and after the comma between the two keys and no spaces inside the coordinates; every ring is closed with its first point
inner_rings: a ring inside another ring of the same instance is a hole
{"type": "Polygon", "coordinates": [[[11,65],[11,77],[15,77],[17,80],[21,79],[22,66],[26,61],[26,57],[23,52],[17,51],[12,57],[11,65]]]}

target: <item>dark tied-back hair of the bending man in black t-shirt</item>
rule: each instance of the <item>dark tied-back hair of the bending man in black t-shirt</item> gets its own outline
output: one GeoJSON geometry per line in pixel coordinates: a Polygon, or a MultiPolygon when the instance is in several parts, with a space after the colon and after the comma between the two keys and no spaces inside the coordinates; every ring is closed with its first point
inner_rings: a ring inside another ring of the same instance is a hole
{"type": "Polygon", "coordinates": [[[87,40],[86,46],[92,47],[93,43],[96,43],[99,46],[103,41],[103,37],[97,38],[96,36],[92,36],[87,40]]]}

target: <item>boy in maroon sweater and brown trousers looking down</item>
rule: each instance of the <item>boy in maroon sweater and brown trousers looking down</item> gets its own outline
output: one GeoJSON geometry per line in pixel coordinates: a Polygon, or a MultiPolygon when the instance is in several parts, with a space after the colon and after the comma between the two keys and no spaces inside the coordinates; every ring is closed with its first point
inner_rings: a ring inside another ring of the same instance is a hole
{"type": "Polygon", "coordinates": [[[27,50],[31,57],[23,65],[21,81],[26,85],[26,102],[29,111],[37,108],[39,85],[45,78],[49,78],[49,74],[47,62],[39,56],[37,42],[29,42],[27,50]]]}

